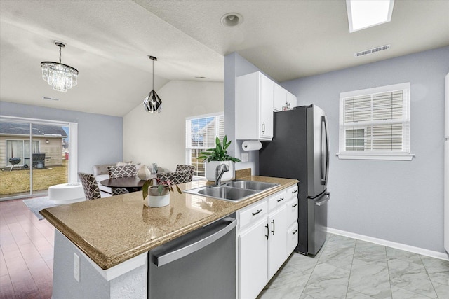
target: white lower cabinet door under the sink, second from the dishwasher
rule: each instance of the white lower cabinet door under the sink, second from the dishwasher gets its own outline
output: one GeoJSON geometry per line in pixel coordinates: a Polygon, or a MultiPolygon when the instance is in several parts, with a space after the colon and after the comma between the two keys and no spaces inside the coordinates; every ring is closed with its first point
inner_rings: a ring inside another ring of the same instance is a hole
{"type": "Polygon", "coordinates": [[[287,206],[276,209],[268,216],[268,278],[279,270],[287,258],[287,206]]]}

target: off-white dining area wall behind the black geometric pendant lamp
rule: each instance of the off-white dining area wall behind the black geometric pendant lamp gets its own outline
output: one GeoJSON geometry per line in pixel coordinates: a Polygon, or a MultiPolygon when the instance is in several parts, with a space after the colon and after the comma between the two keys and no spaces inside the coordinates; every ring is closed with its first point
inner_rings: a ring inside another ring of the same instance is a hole
{"type": "Polygon", "coordinates": [[[170,81],[156,92],[161,113],[140,104],[123,117],[123,160],[173,171],[185,164],[185,118],[222,112],[223,83],[170,81]]]}

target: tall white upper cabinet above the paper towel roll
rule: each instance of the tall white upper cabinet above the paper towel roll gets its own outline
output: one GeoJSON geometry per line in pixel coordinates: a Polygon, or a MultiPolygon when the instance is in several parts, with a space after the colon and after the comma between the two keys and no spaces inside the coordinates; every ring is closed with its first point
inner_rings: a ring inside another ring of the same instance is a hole
{"type": "Polygon", "coordinates": [[[273,139],[275,84],[260,71],[236,78],[236,139],[273,139]]]}

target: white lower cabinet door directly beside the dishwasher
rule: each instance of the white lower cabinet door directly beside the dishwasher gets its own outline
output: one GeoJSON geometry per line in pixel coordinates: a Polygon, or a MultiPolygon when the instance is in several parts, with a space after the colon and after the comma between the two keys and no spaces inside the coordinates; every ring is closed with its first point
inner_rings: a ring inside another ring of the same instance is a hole
{"type": "Polygon", "coordinates": [[[267,218],[239,235],[240,299],[256,298],[268,282],[266,235],[267,218]]]}

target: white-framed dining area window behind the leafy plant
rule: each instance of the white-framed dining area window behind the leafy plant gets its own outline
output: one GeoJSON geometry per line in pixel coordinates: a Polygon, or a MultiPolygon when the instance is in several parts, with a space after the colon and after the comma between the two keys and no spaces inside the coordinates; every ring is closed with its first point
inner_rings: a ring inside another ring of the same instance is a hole
{"type": "Polygon", "coordinates": [[[215,137],[223,139],[225,136],[225,116],[208,114],[194,116],[186,120],[186,164],[195,167],[194,176],[204,177],[205,165],[199,161],[199,153],[207,148],[215,147],[215,137]]]}

